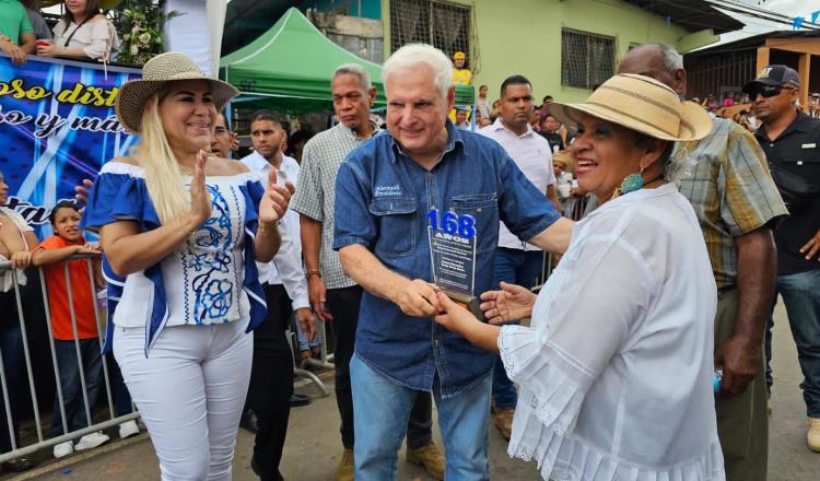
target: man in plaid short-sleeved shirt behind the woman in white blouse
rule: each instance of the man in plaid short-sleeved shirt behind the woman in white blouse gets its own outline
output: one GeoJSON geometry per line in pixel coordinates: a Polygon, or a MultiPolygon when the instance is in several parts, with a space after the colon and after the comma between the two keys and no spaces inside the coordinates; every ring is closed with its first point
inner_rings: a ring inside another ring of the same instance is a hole
{"type": "MultiPolygon", "coordinates": [[[[683,96],[683,59],[668,45],[633,48],[620,73],[642,73],[683,96]]],[[[698,215],[717,284],[715,365],[723,380],[715,400],[726,479],[766,479],[769,420],[763,383],[763,331],[774,292],[772,225],[785,215],[751,133],[731,120],[713,119],[700,141],[679,142],[669,173],[698,215]]]]}

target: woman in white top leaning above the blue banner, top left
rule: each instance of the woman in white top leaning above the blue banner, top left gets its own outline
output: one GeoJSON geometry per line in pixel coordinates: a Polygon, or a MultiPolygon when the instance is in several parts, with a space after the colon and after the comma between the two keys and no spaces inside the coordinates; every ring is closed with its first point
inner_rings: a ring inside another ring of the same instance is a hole
{"type": "Polygon", "coordinates": [[[117,31],[101,13],[99,0],[65,0],[66,13],[54,27],[54,42],[38,43],[40,57],[74,57],[107,62],[119,45],[117,31]]]}

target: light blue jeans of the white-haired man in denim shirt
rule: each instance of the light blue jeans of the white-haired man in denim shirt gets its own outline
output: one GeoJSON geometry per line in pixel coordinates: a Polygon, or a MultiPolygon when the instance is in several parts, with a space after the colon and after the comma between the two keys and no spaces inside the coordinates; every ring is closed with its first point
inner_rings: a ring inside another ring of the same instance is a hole
{"type": "MultiPolygon", "coordinates": [[[[353,386],[356,481],[396,479],[397,453],[410,410],[422,391],[405,387],[370,367],[359,355],[350,360],[353,386]]],[[[437,376],[433,396],[447,454],[445,480],[489,480],[490,375],[462,392],[443,399],[437,376]]]]}

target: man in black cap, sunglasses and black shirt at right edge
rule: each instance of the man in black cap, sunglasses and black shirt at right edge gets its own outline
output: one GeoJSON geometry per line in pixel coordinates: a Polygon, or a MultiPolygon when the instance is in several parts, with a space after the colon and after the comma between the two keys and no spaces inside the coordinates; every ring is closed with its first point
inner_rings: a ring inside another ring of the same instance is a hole
{"type": "Polygon", "coordinates": [[[746,86],[755,132],[790,216],[774,232],[777,292],[788,313],[803,369],[808,446],[820,453],[820,120],[797,108],[800,77],[786,66],[769,66],[746,86]]]}

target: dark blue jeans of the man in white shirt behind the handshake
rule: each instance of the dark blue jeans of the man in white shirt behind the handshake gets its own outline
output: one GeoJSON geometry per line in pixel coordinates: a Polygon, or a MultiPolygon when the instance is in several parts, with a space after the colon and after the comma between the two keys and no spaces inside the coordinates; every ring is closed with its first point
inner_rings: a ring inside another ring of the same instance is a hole
{"type": "MultiPolygon", "coordinates": [[[[502,281],[531,288],[536,285],[542,266],[543,253],[540,250],[525,251],[499,247],[495,250],[493,289],[500,289],[499,285],[502,281]]],[[[507,377],[500,356],[495,357],[495,365],[493,366],[493,400],[497,408],[515,408],[518,403],[515,384],[507,377]]]]}

